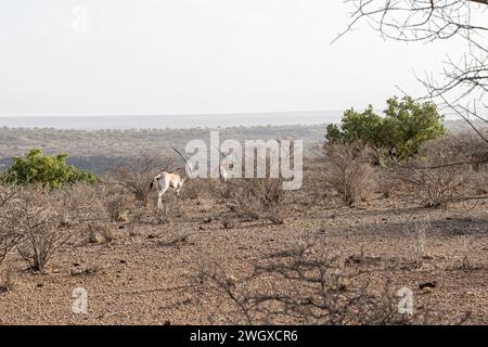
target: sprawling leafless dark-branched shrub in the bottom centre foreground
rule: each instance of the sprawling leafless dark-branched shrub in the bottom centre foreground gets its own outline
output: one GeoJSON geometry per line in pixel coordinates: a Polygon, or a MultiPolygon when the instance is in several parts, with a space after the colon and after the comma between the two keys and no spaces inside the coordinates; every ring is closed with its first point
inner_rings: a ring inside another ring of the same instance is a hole
{"type": "Polygon", "coordinates": [[[357,281],[367,275],[336,256],[320,256],[313,245],[272,254],[248,275],[236,279],[202,270],[203,292],[216,292],[235,307],[236,323],[247,324],[395,324],[395,295],[357,281]],[[260,283],[261,285],[256,285],[260,283]],[[262,285],[268,283],[269,285],[262,285]]]}

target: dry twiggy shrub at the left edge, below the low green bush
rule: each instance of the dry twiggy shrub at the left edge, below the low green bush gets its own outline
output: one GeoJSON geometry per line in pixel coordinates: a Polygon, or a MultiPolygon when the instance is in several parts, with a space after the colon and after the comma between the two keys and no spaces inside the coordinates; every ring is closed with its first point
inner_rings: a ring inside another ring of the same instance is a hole
{"type": "Polygon", "coordinates": [[[87,184],[57,190],[28,185],[1,191],[3,196],[14,192],[12,197],[3,198],[0,208],[2,258],[16,248],[36,271],[46,269],[55,252],[75,235],[74,229],[93,215],[100,218],[98,208],[92,208],[97,189],[87,184]]]}

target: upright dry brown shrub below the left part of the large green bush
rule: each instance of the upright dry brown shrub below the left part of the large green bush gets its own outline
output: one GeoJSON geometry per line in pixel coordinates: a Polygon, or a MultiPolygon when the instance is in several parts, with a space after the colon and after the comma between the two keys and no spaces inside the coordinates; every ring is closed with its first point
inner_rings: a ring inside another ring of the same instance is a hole
{"type": "Polygon", "coordinates": [[[322,175],[325,188],[337,193],[347,205],[365,201],[375,183],[371,166],[373,151],[360,142],[324,144],[328,163],[322,175]]]}

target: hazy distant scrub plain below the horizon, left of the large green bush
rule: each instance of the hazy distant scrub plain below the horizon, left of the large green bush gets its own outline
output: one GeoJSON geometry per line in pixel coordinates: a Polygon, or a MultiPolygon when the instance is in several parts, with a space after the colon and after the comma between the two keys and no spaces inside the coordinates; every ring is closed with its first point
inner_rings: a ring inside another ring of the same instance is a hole
{"type": "MultiPolygon", "coordinates": [[[[323,139],[324,125],[259,126],[221,128],[226,139],[275,139],[283,134],[303,139],[311,146],[323,139]]],[[[68,164],[103,172],[120,159],[140,153],[172,154],[170,146],[184,147],[191,139],[208,140],[210,129],[60,130],[52,128],[0,128],[0,164],[38,147],[47,154],[68,153],[68,164]]]]}

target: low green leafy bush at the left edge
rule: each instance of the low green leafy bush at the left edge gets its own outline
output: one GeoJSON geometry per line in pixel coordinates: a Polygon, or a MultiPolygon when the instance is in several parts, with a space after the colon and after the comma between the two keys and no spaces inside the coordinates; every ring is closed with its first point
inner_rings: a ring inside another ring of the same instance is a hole
{"type": "Polygon", "coordinates": [[[3,175],[7,183],[40,183],[44,187],[61,188],[75,182],[93,183],[97,177],[66,164],[67,154],[44,155],[35,149],[25,157],[13,157],[12,166],[3,175]]]}

